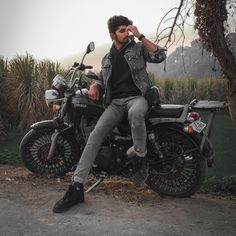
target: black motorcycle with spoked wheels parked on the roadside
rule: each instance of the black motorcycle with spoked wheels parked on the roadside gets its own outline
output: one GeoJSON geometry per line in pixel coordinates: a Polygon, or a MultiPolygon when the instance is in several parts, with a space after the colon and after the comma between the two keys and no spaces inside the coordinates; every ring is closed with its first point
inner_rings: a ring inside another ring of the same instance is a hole
{"type": "MultiPolygon", "coordinates": [[[[91,70],[86,73],[92,66],[83,61],[94,49],[91,42],[81,63],[75,62],[65,77],[56,75],[52,89],[45,92],[54,118],[33,124],[20,144],[20,157],[33,173],[64,175],[74,170],[104,111],[102,102],[90,100],[87,94],[89,83],[98,77],[91,70]]],[[[160,195],[189,197],[199,190],[213,164],[210,131],[216,111],[225,109],[227,104],[196,99],[185,105],[160,104],[158,89],[154,87],[151,91],[153,102],[146,117],[149,162],[146,184],[160,195]],[[199,111],[210,112],[207,124],[201,121],[199,111]]],[[[130,126],[124,117],[100,147],[91,169],[97,182],[87,192],[106,176],[132,175],[136,164],[132,146],[130,126]]]]}

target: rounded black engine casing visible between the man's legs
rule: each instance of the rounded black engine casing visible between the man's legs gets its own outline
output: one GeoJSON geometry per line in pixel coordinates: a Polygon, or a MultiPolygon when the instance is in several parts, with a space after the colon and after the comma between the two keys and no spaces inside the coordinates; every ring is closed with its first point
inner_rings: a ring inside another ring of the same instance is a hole
{"type": "Polygon", "coordinates": [[[109,146],[102,146],[96,157],[94,167],[101,171],[109,171],[116,164],[116,152],[109,146]]]}

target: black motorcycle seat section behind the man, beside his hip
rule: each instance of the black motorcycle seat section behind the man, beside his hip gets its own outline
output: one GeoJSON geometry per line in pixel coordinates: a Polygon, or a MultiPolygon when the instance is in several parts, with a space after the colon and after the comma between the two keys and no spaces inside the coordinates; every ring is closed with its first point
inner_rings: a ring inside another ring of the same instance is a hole
{"type": "Polygon", "coordinates": [[[179,118],[183,113],[184,105],[161,104],[153,106],[148,114],[149,118],[179,118]]]}

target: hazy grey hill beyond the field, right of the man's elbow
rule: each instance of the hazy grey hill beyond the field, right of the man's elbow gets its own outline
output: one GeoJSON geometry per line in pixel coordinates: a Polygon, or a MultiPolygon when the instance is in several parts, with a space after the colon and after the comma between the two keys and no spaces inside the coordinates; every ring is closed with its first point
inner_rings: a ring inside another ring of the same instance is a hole
{"type": "MultiPolygon", "coordinates": [[[[230,33],[226,39],[231,51],[236,57],[236,33],[230,33]]],[[[190,46],[184,48],[178,47],[167,57],[166,71],[164,71],[164,63],[149,64],[148,70],[158,78],[222,76],[218,60],[206,51],[197,39],[193,40],[190,46]]]]}

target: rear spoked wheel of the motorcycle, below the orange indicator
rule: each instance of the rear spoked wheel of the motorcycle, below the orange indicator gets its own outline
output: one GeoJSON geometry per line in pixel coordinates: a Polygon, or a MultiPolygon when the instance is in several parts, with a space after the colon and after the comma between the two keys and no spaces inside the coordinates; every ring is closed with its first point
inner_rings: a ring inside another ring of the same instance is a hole
{"type": "Polygon", "coordinates": [[[207,176],[199,145],[178,125],[157,127],[163,158],[152,157],[146,184],[161,196],[190,197],[207,176]]]}

